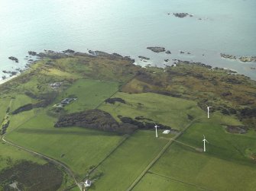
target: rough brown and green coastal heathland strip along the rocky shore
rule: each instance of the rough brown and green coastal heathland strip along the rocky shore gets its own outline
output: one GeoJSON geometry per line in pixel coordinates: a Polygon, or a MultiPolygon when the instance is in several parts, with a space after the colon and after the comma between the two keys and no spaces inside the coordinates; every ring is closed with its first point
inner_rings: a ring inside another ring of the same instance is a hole
{"type": "Polygon", "coordinates": [[[203,110],[208,104],[213,106],[212,111],[236,115],[246,126],[256,126],[256,82],[245,75],[182,61],[175,67],[141,68],[133,65],[134,60],[128,57],[99,51],[96,54],[41,54],[41,61],[32,65],[29,71],[2,84],[0,94],[27,94],[35,100],[34,103],[44,101],[48,105],[77,79],[118,81],[120,91],[154,92],[196,100],[203,110]],[[49,83],[56,81],[63,81],[57,91],[49,88],[49,83]]]}

